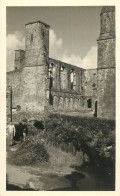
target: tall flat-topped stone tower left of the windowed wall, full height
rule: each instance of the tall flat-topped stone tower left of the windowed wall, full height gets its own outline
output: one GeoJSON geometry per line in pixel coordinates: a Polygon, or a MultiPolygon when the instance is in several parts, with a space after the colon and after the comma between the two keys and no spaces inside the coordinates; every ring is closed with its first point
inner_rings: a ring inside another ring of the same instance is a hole
{"type": "Polygon", "coordinates": [[[24,112],[44,111],[47,105],[48,58],[49,25],[41,21],[26,24],[22,98],[24,112]]]}

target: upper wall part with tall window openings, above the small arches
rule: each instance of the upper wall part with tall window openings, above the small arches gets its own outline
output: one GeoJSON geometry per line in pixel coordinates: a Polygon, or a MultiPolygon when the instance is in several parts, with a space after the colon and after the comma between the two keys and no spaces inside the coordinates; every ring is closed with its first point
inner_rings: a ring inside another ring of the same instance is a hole
{"type": "Polygon", "coordinates": [[[49,70],[53,78],[53,90],[82,94],[82,74],[84,69],[50,58],[49,70]],[[53,67],[50,66],[51,64],[53,67]],[[71,81],[71,73],[73,73],[73,81],[71,81]],[[71,83],[73,83],[73,88],[71,83]]]}

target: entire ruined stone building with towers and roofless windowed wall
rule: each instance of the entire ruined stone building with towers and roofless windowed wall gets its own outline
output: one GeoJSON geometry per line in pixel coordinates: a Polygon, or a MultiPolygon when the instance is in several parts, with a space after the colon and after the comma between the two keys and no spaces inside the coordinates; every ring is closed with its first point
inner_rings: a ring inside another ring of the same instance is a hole
{"type": "Polygon", "coordinates": [[[12,107],[32,114],[91,112],[114,119],[115,7],[101,10],[97,69],[86,70],[49,58],[49,29],[41,21],[25,25],[25,51],[15,51],[15,69],[7,73],[8,117],[12,107]]]}

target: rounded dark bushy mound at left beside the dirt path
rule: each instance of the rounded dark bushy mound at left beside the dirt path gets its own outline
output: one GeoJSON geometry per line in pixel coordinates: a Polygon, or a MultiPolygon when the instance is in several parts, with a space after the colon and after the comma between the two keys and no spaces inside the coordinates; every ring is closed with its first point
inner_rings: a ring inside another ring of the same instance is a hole
{"type": "Polygon", "coordinates": [[[11,161],[17,165],[34,165],[46,163],[48,160],[49,154],[38,134],[34,137],[30,136],[19,146],[17,151],[11,154],[11,161]]]}

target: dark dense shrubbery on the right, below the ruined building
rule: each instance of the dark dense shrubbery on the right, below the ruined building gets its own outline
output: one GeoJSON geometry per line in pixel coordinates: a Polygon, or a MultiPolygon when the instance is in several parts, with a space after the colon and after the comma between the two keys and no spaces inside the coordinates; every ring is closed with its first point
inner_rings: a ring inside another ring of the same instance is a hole
{"type": "Polygon", "coordinates": [[[114,162],[114,130],[115,121],[112,120],[54,116],[46,121],[45,135],[49,142],[66,152],[82,150],[92,163],[97,164],[114,162]]]}

